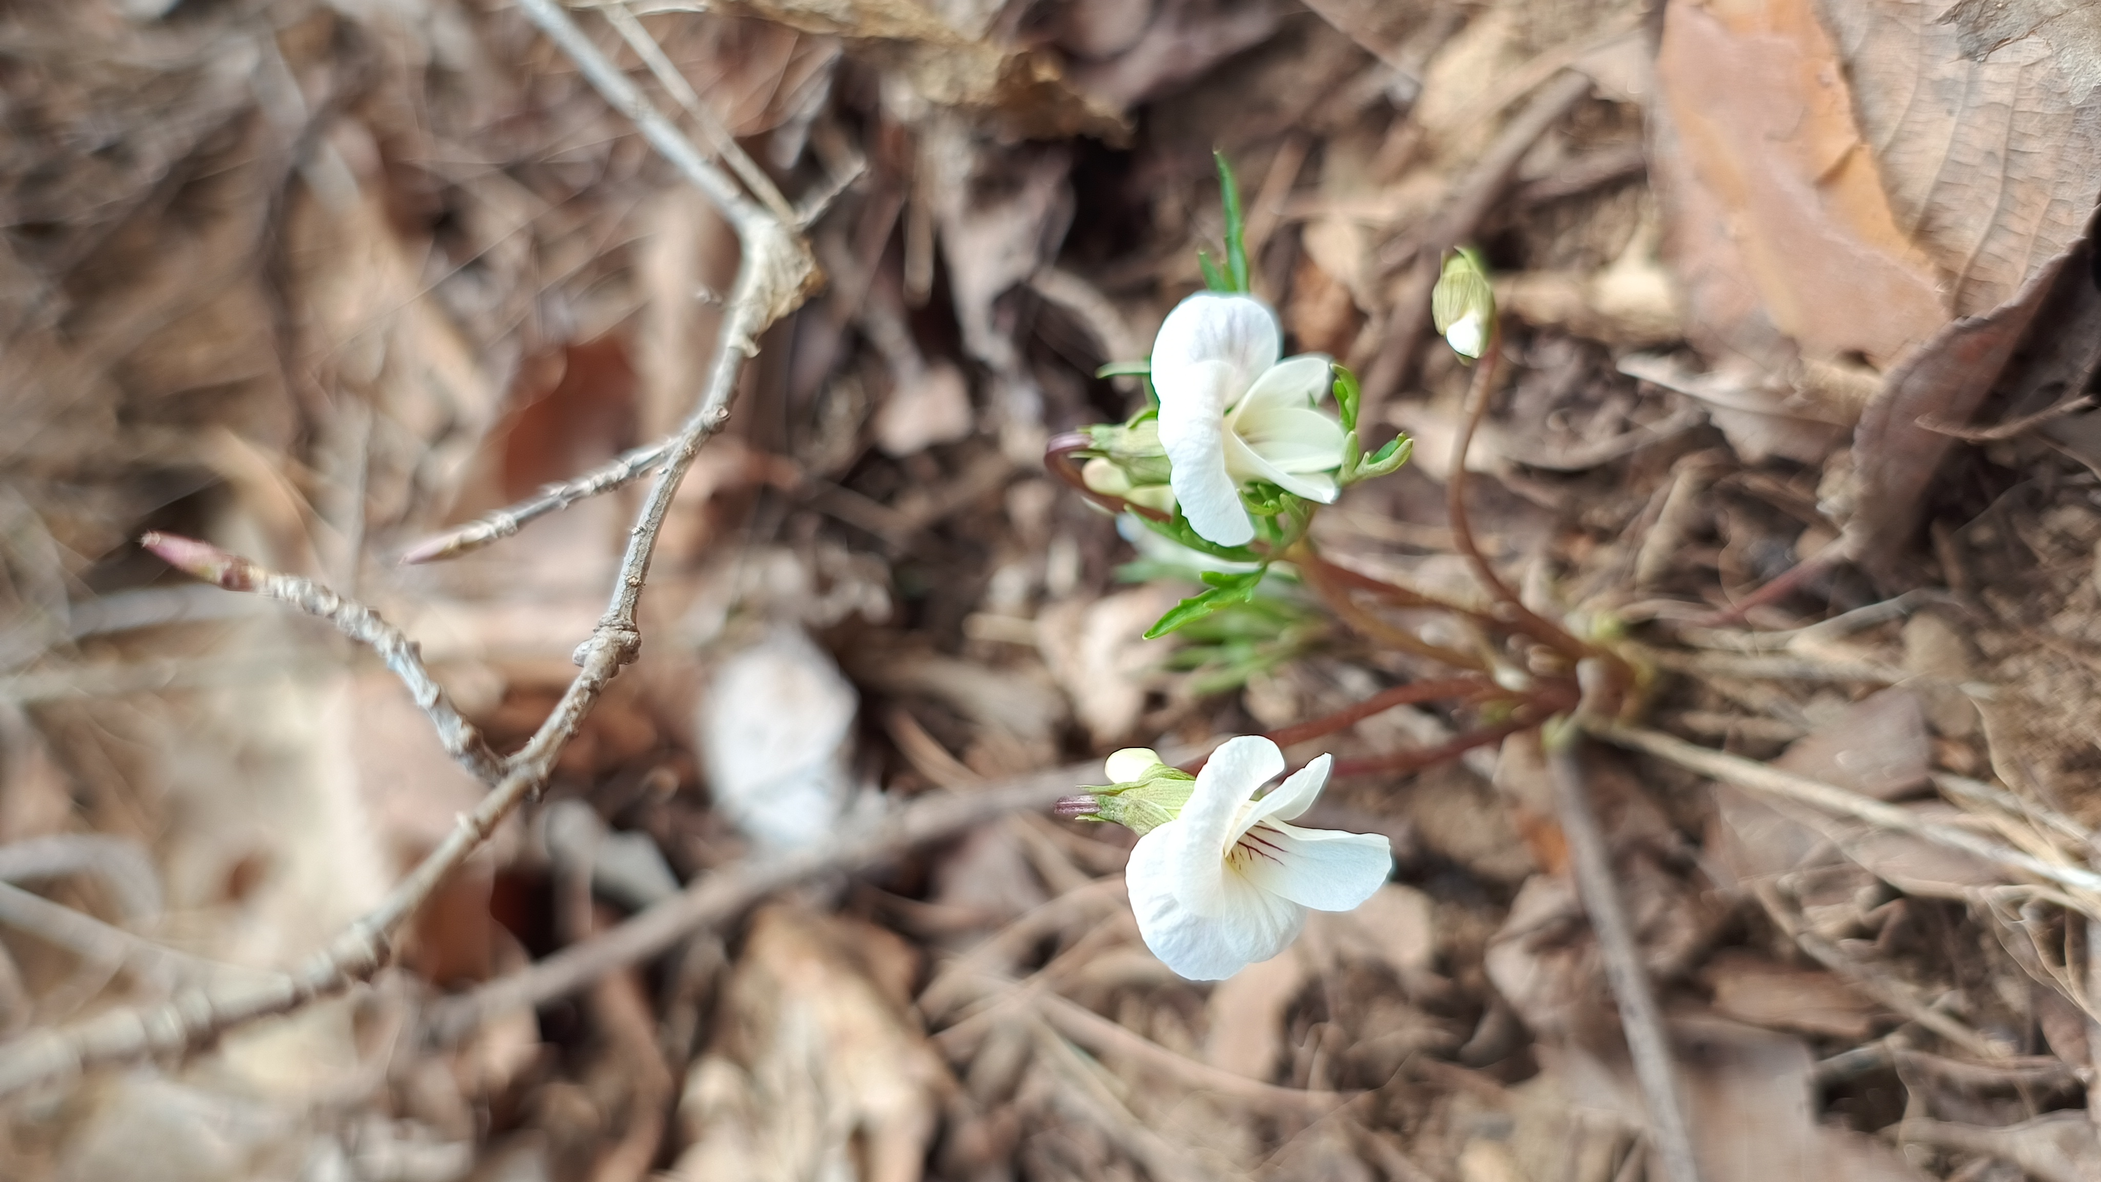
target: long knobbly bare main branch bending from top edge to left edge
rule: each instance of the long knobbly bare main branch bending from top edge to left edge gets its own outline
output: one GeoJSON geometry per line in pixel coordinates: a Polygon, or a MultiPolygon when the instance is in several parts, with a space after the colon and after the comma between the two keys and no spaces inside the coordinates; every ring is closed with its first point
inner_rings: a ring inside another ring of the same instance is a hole
{"type": "MultiPolygon", "coordinates": [[[[786,315],[805,294],[815,273],[809,248],[794,231],[752,204],[679,128],[651,107],[641,93],[613,67],[590,40],[569,21],[555,0],[519,0],[525,15],[540,25],[576,61],[578,69],[693,187],[698,187],[731,223],[742,246],[737,282],[731,290],[714,362],[693,414],[660,461],[660,471],[628,534],[620,559],[611,604],[578,648],[582,671],[569,681],[561,700],[540,730],[515,755],[500,763],[492,791],[471,814],[460,816],[454,831],[414,871],[408,873],[370,913],[353,921],[321,953],[298,970],[233,989],[189,991],[164,1005],[145,1010],[113,1010],[71,1028],[40,1031],[0,1047],[0,1098],[38,1083],[76,1075],[84,1068],[134,1062],[147,1056],[181,1054],[219,1037],[233,1026],[273,1014],[286,1014],[317,997],[342,993],[370,980],[393,955],[393,940],[410,915],[431,898],[437,885],[487,841],[490,833],[511,816],[527,795],[546,784],[555,759],[576,736],[597,705],[605,686],[622,665],[641,652],[641,631],[635,608],[658,532],[670,509],[672,494],[702,442],[729,419],[744,360],[756,353],[758,332],[786,315]]],[[[353,618],[355,612],[342,618],[353,618]]],[[[338,627],[342,623],[338,620],[338,627]]],[[[401,650],[410,658],[414,648],[401,650]]],[[[420,669],[420,663],[416,665],[420,669]]],[[[399,669],[397,669],[399,673],[399,669]]],[[[462,749],[466,751],[466,749],[462,749]]]]}

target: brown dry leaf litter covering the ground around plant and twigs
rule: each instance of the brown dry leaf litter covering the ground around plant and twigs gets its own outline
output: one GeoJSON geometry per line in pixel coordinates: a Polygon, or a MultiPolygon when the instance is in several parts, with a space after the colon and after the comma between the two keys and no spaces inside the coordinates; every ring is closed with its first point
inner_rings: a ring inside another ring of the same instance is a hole
{"type": "MultiPolygon", "coordinates": [[[[1443,513],[1469,374],[1427,332],[1475,242],[1511,318],[1466,456],[1490,557],[1542,614],[1624,623],[1647,726],[1901,810],[1588,753],[1704,1176],[2101,1174],[2101,896],[1931,837],[2095,856],[2101,29],[2048,0],[1311,8],[580,13],[824,208],[828,286],[672,505],[645,656],[397,970],[15,1096],[4,1174],[1660,1178],[1527,736],[1338,780],[1307,820],[1389,835],[1395,881],[1216,986],[1139,942],[1122,831],[992,810],[473,1003],[735,881],[754,816],[826,839],[876,793],[1437,675],[1290,599],[1141,641],[1193,585],[1120,583],[1158,555],[1044,475],[1048,437],[1137,406],[1097,368],[1202,284],[1212,147],[1292,347],[1416,440],[1322,515],[1330,557],[1479,595],[1443,513]]],[[[370,658],[132,541],[378,606],[508,751],[632,501],[395,559],[666,435],[735,240],[504,4],[25,4],[0,44],[23,1037],[294,963],[479,795],[370,658]]],[[[1466,726],[1395,707],[1292,755],[1466,726]]]]}

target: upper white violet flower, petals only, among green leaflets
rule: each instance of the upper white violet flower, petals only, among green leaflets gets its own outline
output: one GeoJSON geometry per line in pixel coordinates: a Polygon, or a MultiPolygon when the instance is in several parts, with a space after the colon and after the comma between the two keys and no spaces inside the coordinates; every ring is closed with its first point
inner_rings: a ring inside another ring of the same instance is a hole
{"type": "Polygon", "coordinates": [[[1240,486],[1267,480],[1307,501],[1332,503],[1343,467],[1343,425],[1313,410],[1332,362],[1319,353],[1277,360],[1277,318],[1246,294],[1198,292],[1168,313],[1153,339],[1160,444],[1183,515],[1206,541],[1254,541],[1240,486]]]}

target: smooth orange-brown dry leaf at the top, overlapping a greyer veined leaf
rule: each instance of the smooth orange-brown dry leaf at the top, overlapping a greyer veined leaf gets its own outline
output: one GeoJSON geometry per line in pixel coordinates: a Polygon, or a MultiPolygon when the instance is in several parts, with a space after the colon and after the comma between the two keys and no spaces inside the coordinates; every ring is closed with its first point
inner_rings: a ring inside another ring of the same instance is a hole
{"type": "Polygon", "coordinates": [[[1656,80],[1653,179],[1702,351],[1889,366],[1948,320],[1811,0],[1674,0],[1656,80]]]}

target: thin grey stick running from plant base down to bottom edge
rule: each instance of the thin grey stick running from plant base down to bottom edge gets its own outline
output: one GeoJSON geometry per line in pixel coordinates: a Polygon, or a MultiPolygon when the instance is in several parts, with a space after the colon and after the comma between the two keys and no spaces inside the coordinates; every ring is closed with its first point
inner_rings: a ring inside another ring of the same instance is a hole
{"type": "Polygon", "coordinates": [[[1605,980],[1620,1003],[1620,1026],[1635,1060],[1635,1079],[1649,1108],[1649,1140],[1670,1182],[1700,1182],[1693,1159],[1691,1125],[1685,1121],[1679,1064],[1670,1058],[1670,1037],[1664,1014],[1656,1007],[1656,991],[1641,967],[1641,944],[1620,900],[1620,883],[1611,877],[1611,850],[1590,810],[1590,793],[1582,782],[1582,763],[1569,745],[1546,745],[1546,772],[1555,784],[1555,812],[1569,843],[1569,867],[1576,873],[1576,894],[1582,898],[1597,951],[1605,959],[1605,980]]]}

